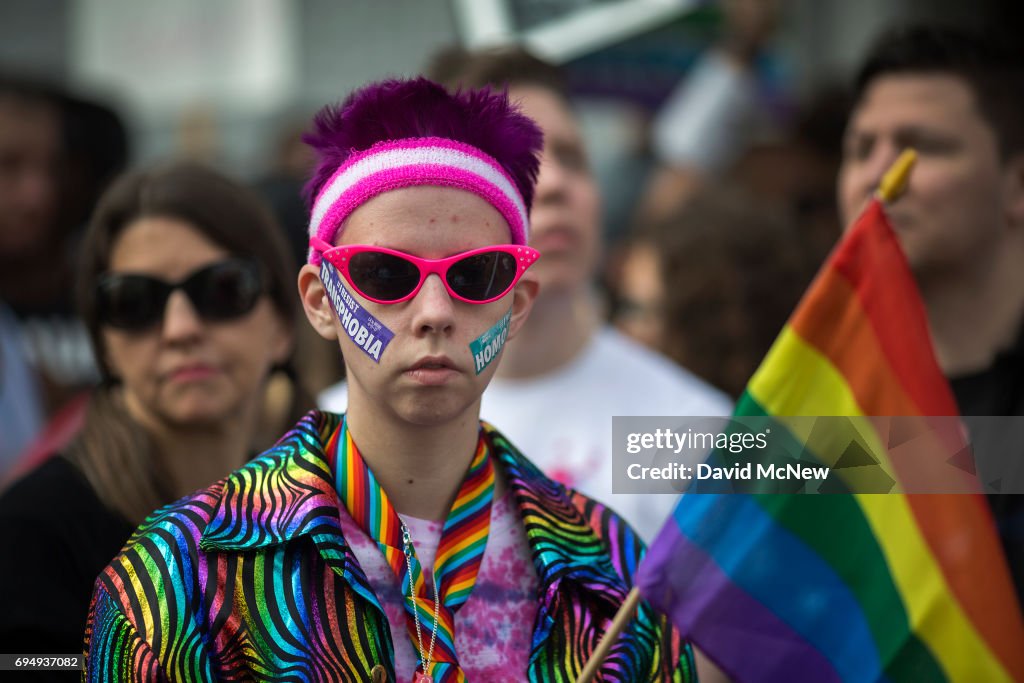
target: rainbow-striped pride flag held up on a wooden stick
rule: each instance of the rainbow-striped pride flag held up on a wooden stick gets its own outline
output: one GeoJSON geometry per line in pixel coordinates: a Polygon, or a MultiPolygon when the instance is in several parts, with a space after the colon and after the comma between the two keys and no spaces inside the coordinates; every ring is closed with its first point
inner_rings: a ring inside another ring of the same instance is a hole
{"type": "MultiPolygon", "coordinates": [[[[881,201],[735,415],[957,415],[881,201]]],[[[637,583],[736,681],[1024,681],[1024,625],[980,494],[687,495],[637,583]]]]}

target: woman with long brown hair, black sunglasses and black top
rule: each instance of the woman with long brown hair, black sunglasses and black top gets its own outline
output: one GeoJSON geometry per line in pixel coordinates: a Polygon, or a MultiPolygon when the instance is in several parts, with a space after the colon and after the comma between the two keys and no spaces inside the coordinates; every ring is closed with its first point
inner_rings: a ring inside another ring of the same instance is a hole
{"type": "MultiPolygon", "coordinates": [[[[4,651],[80,652],[93,582],[132,529],[269,443],[263,398],[298,312],[288,254],[255,195],[199,166],[102,197],[77,291],[102,383],[67,452],[0,500],[4,651]]],[[[292,386],[288,424],[311,404],[292,386]]]]}

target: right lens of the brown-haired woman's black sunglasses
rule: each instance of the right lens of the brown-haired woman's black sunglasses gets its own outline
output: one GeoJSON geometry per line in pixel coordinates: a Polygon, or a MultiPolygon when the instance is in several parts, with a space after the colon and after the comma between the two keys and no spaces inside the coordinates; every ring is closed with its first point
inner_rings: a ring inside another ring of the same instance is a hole
{"type": "Polygon", "coordinates": [[[258,266],[247,261],[215,263],[190,276],[181,288],[199,314],[210,321],[245,315],[263,293],[258,266]]]}

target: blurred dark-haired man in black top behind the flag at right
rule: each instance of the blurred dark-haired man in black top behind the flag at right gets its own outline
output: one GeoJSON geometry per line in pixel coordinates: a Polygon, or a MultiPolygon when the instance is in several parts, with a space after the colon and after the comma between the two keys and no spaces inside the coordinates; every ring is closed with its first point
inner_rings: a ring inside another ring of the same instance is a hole
{"type": "MultiPolygon", "coordinates": [[[[1024,415],[1021,55],[955,29],[899,29],[877,43],[856,89],[839,177],[844,222],[899,153],[916,150],[907,191],[889,215],[925,299],[939,365],[963,415],[1024,415]]],[[[976,452],[998,438],[971,436],[976,452]]],[[[1004,433],[1002,444],[1012,451],[1002,459],[1024,455],[1019,438],[1004,433]]],[[[1024,505],[1016,496],[989,501],[1024,595],[1024,505]]]]}

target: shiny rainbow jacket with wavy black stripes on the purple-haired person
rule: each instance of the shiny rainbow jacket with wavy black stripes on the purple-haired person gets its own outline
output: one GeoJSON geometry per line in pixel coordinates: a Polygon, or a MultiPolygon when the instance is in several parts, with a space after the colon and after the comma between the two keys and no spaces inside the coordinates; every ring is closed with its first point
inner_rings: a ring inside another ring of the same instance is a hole
{"type": "MultiPolygon", "coordinates": [[[[387,618],[345,543],[312,412],[271,450],[150,516],[96,580],[86,680],[394,681],[387,618]]],[[[540,588],[528,671],[574,681],[644,552],[599,503],[548,479],[483,423],[540,588]]],[[[646,603],[604,681],[691,681],[692,652],[646,603]]]]}

